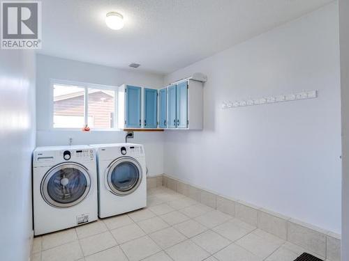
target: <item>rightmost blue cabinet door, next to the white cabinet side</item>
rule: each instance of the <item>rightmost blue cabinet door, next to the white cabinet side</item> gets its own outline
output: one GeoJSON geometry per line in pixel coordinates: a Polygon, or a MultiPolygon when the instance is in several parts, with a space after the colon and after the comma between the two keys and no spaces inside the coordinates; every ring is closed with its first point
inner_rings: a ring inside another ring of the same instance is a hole
{"type": "Polygon", "coordinates": [[[188,127],[188,82],[177,84],[177,128],[188,127]]]}

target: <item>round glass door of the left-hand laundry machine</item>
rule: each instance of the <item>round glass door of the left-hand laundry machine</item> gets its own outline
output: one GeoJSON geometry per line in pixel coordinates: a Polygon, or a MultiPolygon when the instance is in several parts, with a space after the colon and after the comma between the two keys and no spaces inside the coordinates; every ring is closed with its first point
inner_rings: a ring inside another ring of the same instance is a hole
{"type": "Polygon", "coordinates": [[[47,203],[54,207],[77,205],[87,196],[90,187],[89,173],[79,164],[60,164],[52,168],[43,180],[42,193],[47,203]]]}

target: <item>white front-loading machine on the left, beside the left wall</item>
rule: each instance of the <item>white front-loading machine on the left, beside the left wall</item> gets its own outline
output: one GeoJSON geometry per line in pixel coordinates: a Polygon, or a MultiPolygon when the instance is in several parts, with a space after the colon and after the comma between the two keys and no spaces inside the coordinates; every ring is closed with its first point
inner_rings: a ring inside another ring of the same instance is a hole
{"type": "Polygon", "coordinates": [[[98,219],[96,150],[41,147],[33,157],[34,235],[98,219]]]}

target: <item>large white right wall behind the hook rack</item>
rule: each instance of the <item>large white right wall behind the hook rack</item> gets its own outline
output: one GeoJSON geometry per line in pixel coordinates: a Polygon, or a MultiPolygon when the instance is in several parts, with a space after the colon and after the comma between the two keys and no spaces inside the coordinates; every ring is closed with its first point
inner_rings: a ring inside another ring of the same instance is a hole
{"type": "Polygon", "coordinates": [[[165,132],[165,173],[341,232],[337,4],[165,77],[207,74],[203,131],[165,132]],[[318,90],[318,99],[221,109],[318,90]]]}

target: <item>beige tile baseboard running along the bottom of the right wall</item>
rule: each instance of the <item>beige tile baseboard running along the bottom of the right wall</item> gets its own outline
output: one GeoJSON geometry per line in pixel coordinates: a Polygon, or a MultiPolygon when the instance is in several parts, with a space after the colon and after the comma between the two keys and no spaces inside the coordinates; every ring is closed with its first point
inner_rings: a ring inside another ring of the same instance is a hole
{"type": "Polygon", "coordinates": [[[235,216],[246,223],[251,223],[266,232],[276,235],[276,237],[297,244],[306,249],[306,251],[318,254],[330,261],[340,261],[341,235],[337,233],[292,219],[268,209],[263,209],[262,207],[251,205],[242,200],[220,195],[214,191],[209,191],[188,182],[183,182],[168,174],[163,174],[163,186],[216,209],[218,209],[218,198],[230,200],[232,202],[231,205],[235,206],[235,210],[228,213],[231,216],[235,216]],[[214,205],[214,202],[216,202],[216,205],[214,205]],[[261,216],[263,216],[264,221],[261,221],[261,216]],[[288,224],[292,225],[292,228],[296,227],[297,230],[291,230],[288,224]],[[302,236],[299,236],[299,233],[302,233],[302,236]],[[328,244],[329,241],[332,242],[332,245],[328,244]],[[315,242],[315,244],[311,245],[309,242],[315,242]]]}

